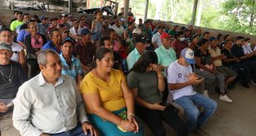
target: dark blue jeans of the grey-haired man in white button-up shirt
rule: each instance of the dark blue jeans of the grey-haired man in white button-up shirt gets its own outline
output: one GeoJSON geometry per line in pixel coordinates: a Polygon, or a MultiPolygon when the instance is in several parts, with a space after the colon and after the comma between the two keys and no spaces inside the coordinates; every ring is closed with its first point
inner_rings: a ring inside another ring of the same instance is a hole
{"type": "Polygon", "coordinates": [[[88,134],[85,135],[82,129],[82,125],[78,124],[77,127],[71,129],[67,132],[60,133],[60,134],[49,134],[50,136],[91,136],[90,130],[88,130],[88,134]]]}

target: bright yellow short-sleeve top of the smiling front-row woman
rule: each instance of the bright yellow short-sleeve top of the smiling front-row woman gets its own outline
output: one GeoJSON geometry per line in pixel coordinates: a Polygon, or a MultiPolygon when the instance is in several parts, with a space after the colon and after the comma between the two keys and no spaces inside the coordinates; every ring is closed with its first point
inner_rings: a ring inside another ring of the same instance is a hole
{"type": "MultiPolygon", "coordinates": [[[[107,110],[114,111],[126,107],[123,91],[121,89],[121,82],[126,78],[121,71],[111,69],[111,77],[109,82],[94,76],[92,72],[88,73],[81,82],[80,90],[83,93],[98,93],[102,106],[107,110]]],[[[92,113],[88,109],[89,113],[92,113]]]]}

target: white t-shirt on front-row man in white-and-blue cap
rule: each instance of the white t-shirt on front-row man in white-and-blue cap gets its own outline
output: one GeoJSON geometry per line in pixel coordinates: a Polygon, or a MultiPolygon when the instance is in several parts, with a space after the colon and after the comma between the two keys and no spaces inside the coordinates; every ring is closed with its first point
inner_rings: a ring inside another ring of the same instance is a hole
{"type": "MultiPolygon", "coordinates": [[[[180,65],[178,63],[178,60],[171,63],[168,66],[168,83],[183,83],[187,82],[187,75],[189,73],[192,73],[192,67],[191,65],[185,67],[183,65],[180,65]]],[[[169,90],[170,91],[170,90],[169,90]]],[[[181,96],[192,96],[196,94],[195,91],[193,91],[192,86],[183,87],[178,90],[172,90],[170,91],[173,95],[173,100],[178,99],[181,96]]]]}

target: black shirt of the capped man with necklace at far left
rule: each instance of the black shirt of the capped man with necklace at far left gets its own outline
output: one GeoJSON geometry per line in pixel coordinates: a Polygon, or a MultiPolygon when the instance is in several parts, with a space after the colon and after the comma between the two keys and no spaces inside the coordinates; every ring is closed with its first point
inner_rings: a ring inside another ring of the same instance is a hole
{"type": "Polygon", "coordinates": [[[14,61],[7,65],[0,65],[0,70],[0,99],[13,99],[16,97],[21,84],[26,82],[26,74],[21,64],[14,61]],[[8,80],[9,75],[12,82],[8,80]]]}

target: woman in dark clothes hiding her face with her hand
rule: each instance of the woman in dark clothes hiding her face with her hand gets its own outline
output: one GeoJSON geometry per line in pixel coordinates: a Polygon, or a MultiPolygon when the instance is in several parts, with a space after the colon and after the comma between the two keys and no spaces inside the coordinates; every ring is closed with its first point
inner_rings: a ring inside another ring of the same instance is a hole
{"type": "Polygon", "coordinates": [[[187,135],[186,125],[178,117],[174,106],[162,102],[160,93],[164,91],[165,82],[157,63],[155,52],[146,51],[127,76],[128,86],[138,104],[136,113],[149,125],[154,136],[166,135],[163,120],[173,127],[178,136],[187,135]]]}

